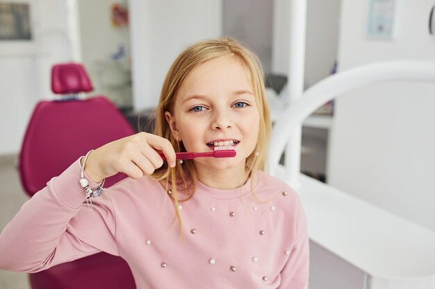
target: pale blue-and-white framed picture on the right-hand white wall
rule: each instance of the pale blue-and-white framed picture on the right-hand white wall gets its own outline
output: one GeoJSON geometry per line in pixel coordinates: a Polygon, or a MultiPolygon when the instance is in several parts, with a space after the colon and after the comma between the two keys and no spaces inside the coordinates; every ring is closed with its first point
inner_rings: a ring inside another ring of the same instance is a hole
{"type": "Polygon", "coordinates": [[[396,37],[398,0],[370,0],[368,5],[367,36],[393,40],[396,37]]]}

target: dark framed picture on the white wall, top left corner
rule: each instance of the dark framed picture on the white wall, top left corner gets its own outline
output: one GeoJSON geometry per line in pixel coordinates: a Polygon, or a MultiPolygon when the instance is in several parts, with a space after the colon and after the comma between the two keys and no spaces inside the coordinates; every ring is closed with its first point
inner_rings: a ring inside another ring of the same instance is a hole
{"type": "Polygon", "coordinates": [[[32,40],[28,3],[0,3],[0,41],[32,40]]]}

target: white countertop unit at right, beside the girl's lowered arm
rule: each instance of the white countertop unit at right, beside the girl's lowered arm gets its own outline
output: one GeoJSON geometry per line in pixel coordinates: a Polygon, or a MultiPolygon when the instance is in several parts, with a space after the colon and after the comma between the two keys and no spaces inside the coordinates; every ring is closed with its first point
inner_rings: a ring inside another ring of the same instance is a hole
{"type": "Polygon", "coordinates": [[[309,238],[369,274],[370,288],[435,287],[434,231],[306,175],[299,182],[309,238]]]}

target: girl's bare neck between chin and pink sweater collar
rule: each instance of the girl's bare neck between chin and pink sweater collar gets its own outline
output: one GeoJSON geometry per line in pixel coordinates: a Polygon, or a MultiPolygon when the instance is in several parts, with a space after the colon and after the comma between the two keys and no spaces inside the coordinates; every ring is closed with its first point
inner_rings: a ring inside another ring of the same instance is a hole
{"type": "Polygon", "coordinates": [[[249,177],[244,166],[224,170],[201,166],[197,168],[197,175],[199,182],[214,189],[236,189],[243,186],[249,177]]]}

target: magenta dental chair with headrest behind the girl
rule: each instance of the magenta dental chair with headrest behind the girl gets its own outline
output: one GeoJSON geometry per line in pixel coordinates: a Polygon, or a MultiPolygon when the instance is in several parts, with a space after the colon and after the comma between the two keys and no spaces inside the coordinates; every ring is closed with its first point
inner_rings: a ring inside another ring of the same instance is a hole
{"type": "MultiPolygon", "coordinates": [[[[51,89],[56,94],[66,94],[67,98],[42,100],[36,105],[19,155],[19,175],[29,196],[88,150],[135,133],[104,96],[85,100],[74,97],[92,91],[92,83],[81,64],[55,65],[51,70],[51,89]]],[[[122,174],[109,177],[105,186],[124,177],[122,174]]],[[[29,281],[33,289],[136,288],[126,261],[104,252],[29,274],[29,281]]]]}

